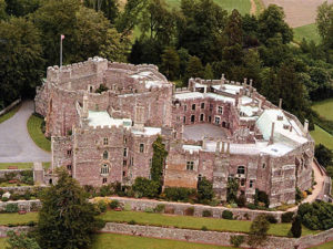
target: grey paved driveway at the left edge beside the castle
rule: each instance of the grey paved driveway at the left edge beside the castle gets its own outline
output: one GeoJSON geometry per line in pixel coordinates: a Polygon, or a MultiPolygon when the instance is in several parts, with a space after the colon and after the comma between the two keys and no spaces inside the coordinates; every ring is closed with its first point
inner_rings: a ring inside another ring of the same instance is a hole
{"type": "Polygon", "coordinates": [[[27,121],[33,113],[33,102],[26,101],[14,116],[0,124],[0,163],[50,162],[51,154],[30,138],[27,121]]]}

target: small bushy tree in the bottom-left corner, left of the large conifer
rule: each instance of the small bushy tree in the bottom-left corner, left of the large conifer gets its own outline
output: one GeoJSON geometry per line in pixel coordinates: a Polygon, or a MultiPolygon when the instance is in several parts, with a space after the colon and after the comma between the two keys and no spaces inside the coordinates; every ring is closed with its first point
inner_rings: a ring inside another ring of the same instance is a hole
{"type": "Polygon", "coordinates": [[[18,235],[14,231],[8,231],[7,236],[6,249],[41,249],[36,238],[29,237],[24,232],[18,235]]]}

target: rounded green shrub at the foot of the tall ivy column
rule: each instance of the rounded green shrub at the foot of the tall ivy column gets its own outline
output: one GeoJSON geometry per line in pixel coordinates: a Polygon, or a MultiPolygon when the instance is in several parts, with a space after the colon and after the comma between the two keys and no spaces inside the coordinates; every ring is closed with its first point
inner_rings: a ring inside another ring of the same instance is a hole
{"type": "Polygon", "coordinates": [[[135,178],[133,184],[133,190],[138,194],[139,197],[157,197],[159,194],[160,184],[154,180],[147,179],[144,177],[135,178]]]}

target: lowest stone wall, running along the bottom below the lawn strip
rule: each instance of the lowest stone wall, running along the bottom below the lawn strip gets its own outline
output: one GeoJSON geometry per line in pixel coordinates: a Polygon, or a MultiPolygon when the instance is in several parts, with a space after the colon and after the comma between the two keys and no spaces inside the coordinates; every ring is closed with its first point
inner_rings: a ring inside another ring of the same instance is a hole
{"type": "MultiPolygon", "coordinates": [[[[100,231],[152,237],[152,238],[160,238],[160,239],[184,240],[189,242],[212,243],[219,246],[232,246],[230,243],[231,236],[244,236],[245,241],[249,237],[246,234],[239,234],[239,232],[201,231],[201,230],[191,230],[191,229],[164,228],[164,227],[128,225],[128,224],[117,224],[117,222],[107,222],[105,227],[100,231]]],[[[300,239],[270,236],[265,241],[265,243],[262,246],[262,248],[263,249],[276,249],[276,248],[306,249],[309,247],[317,246],[320,243],[324,243],[331,240],[333,240],[333,229],[323,231],[317,235],[304,236],[300,239]]],[[[241,247],[250,248],[246,242],[242,243],[241,247]]]]}

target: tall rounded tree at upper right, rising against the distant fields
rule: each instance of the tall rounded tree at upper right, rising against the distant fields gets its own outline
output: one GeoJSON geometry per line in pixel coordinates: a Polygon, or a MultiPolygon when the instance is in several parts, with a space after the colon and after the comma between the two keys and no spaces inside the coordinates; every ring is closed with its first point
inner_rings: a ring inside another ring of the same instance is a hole
{"type": "Polygon", "coordinates": [[[259,15],[259,38],[266,44],[270,38],[281,35],[282,42],[289,43],[293,40],[293,31],[284,21],[284,12],[281,7],[270,4],[259,15]]]}

